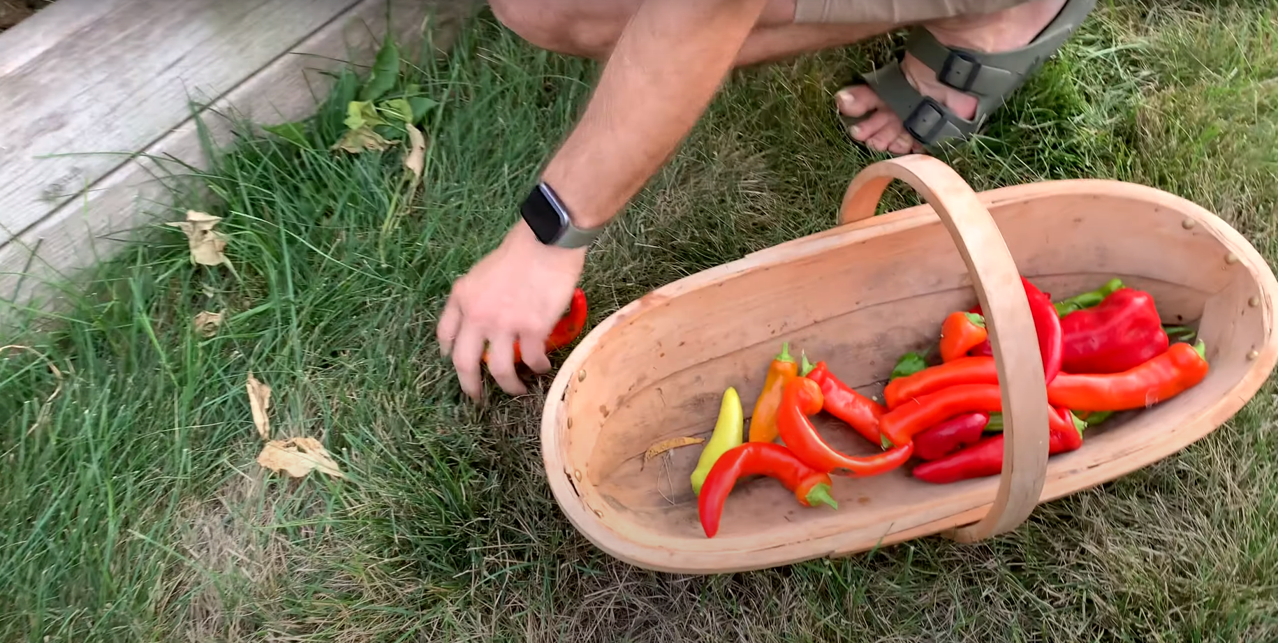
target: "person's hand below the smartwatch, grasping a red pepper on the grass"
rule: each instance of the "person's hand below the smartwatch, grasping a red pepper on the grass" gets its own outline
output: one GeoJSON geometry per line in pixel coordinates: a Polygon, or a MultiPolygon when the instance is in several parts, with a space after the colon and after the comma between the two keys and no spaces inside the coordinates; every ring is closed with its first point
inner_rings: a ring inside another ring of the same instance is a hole
{"type": "Polygon", "coordinates": [[[550,371],[546,336],[567,308],[584,265],[584,248],[544,245],[519,221],[497,249],[452,284],[436,335],[441,353],[452,355],[466,395],[483,395],[479,363],[486,343],[493,380],[510,395],[528,392],[515,373],[515,340],[529,368],[550,371]]]}

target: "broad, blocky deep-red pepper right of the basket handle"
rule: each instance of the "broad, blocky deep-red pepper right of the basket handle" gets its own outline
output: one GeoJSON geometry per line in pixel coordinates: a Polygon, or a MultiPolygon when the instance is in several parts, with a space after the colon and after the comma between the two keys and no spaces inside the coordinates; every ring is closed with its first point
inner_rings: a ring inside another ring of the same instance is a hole
{"type": "Polygon", "coordinates": [[[1061,318],[1067,373],[1121,373],[1167,352],[1169,340],[1144,290],[1121,288],[1095,308],[1061,318]]]}

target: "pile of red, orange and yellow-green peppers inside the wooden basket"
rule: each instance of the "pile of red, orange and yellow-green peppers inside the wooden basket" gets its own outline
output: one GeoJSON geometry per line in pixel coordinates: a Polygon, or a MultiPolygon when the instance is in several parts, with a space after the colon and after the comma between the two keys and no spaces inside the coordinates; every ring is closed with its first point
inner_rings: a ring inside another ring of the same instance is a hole
{"type": "MultiPolygon", "coordinates": [[[[1021,285],[1052,407],[1051,455],[1081,447],[1084,430],[1112,413],[1148,408],[1206,377],[1203,343],[1173,343],[1144,290],[1113,279],[1053,302],[1030,280],[1021,277],[1021,285]]],[[[832,476],[881,476],[912,458],[923,461],[910,474],[938,484],[1002,472],[1002,395],[979,306],[947,314],[934,350],[905,354],[882,403],[841,381],[826,362],[813,364],[806,354],[796,360],[789,344],[763,376],[748,430],[728,387],[693,473],[708,538],[718,533],[728,493],[746,477],[776,479],[803,506],[838,509],[832,476]],[[812,423],[822,412],[878,453],[849,455],[831,446],[812,423]]]]}

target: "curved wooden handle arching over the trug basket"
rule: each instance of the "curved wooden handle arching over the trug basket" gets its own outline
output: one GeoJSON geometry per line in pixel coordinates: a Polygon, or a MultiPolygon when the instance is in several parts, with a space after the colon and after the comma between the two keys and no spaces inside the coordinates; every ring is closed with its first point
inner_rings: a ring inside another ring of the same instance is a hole
{"type": "Polygon", "coordinates": [[[874,215],[892,179],[909,183],[941,217],[973,276],[994,350],[1003,404],[1003,470],[998,495],[979,522],[944,534],[976,542],[1019,527],[1038,506],[1047,477],[1048,401],[1043,357],[1020,272],[994,219],[944,162],[924,155],[875,162],[847,187],[840,224],[874,215]]]}

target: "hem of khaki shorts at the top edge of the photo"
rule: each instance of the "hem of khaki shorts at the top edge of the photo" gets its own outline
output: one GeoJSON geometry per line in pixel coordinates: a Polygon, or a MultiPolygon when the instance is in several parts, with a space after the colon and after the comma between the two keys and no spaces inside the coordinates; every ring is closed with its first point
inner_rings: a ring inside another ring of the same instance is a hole
{"type": "Polygon", "coordinates": [[[912,24],[955,15],[979,15],[1028,0],[795,0],[796,23],[912,24]]]}

